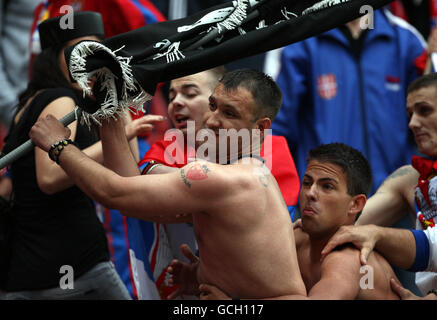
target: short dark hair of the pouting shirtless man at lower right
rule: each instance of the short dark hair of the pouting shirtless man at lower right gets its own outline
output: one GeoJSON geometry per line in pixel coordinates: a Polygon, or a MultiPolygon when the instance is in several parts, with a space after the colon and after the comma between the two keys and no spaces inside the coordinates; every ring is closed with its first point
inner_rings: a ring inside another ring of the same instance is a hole
{"type": "Polygon", "coordinates": [[[344,143],[330,143],[310,150],[307,163],[312,160],[332,163],[346,174],[347,192],[351,196],[368,195],[372,185],[372,171],[367,159],[358,150],[344,143]]]}

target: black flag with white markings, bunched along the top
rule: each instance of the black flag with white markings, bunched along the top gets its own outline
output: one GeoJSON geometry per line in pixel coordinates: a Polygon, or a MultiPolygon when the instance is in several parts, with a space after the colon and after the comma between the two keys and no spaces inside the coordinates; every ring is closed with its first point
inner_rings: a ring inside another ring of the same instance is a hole
{"type": "MultiPolygon", "coordinates": [[[[218,65],[223,65],[236,59],[252,56],[279,48],[308,37],[320,34],[351,21],[360,14],[363,5],[370,5],[374,10],[391,2],[390,0],[349,0],[336,5],[333,1],[325,1],[326,8],[302,15],[302,12],[316,3],[316,1],[293,0],[262,0],[254,7],[247,9],[248,19],[241,30],[232,30],[215,35],[216,22],[211,22],[183,32],[178,27],[193,25],[206,14],[229,8],[232,2],[212,7],[208,10],[191,15],[187,18],[166,21],[148,25],[121,35],[108,38],[102,42],[106,47],[117,51],[121,57],[132,57],[130,65],[134,78],[141,87],[153,94],[159,82],[200,72],[218,65]],[[296,15],[284,17],[283,9],[296,15]],[[258,28],[261,20],[265,20],[267,27],[258,28]],[[212,28],[212,29],[211,29],[212,28]],[[214,29],[215,28],[215,29],[214,29]],[[196,41],[211,36],[211,41],[199,46],[191,47],[196,41]],[[184,57],[174,59],[174,55],[157,56],[168,50],[165,44],[179,43],[180,53],[184,57]]],[[[70,64],[73,48],[67,48],[66,61],[70,64]]],[[[113,64],[109,55],[94,55],[87,59],[87,72],[108,66],[123,81],[120,69],[113,64]]],[[[70,73],[72,73],[70,67],[70,73]]],[[[118,85],[121,88],[121,85],[118,85]]],[[[121,96],[120,89],[118,90],[121,96]]]]}

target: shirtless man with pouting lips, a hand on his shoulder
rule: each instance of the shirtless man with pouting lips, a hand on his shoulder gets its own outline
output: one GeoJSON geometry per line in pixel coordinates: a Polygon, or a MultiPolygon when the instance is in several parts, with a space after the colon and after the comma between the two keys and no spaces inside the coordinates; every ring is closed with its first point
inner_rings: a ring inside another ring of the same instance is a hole
{"type": "MultiPolygon", "coordinates": [[[[329,238],[342,225],[351,225],[366,203],[371,186],[367,160],[357,150],[344,144],[328,144],[310,151],[308,166],[302,179],[300,206],[302,228],[295,229],[299,267],[308,291],[308,298],[325,299],[397,299],[391,291],[390,279],[396,278],[392,268],[377,253],[369,257],[372,278],[361,285],[359,250],[352,246],[331,252],[321,262],[321,251],[329,238]],[[373,286],[373,288],[372,288],[373,286]]],[[[183,248],[187,253],[187,248],[183,248]]],[[[187,257],[190,257],[187,254],[187,257]]],[[[190,257],[195,263],[195,259],[190,257]]],[[[185,264],[185,266],[187,266],[185,264]]],[[[175,262],[169,269],[175,282],[183,281],[175,262]]],[[[232,272],[231,269],[229,272],[232,272]]],[[[369,273],[370,274],[370,273],[369,273]]],[[[187,284],[182,284],[186,288],[187,284]]],[[[193,288],[193,287],[191,287],[193,288]]],[[[201,299],[226,298],[217,288],[200,285],[201,299]]],[[[292,299],[282,296],[276,299],[292,299]]]]}

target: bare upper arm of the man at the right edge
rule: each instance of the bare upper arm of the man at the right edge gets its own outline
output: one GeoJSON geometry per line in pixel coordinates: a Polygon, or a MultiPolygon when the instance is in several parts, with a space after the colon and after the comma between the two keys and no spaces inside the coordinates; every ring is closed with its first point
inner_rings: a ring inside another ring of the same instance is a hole
{"type": "Polygon", "coordinates": [[[412,166],[393,172],[367,200],[356,225],[376,224],[391,226],[407,212],[412,212],[414,187],[419,173],[412,166]]]}

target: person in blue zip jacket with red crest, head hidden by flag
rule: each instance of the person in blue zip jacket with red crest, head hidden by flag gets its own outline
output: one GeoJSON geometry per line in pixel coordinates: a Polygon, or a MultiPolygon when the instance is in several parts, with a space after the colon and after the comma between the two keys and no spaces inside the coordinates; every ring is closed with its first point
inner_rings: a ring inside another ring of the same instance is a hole
{"type": "Polygon", "coordinates": [[[362,19],[283,49],[277,78],[283,104],[272,129],[287,138],[300,177],[318,145],[360,150],[371,163],[374,193],[415,151],[406,88],[423,72],[426,43],[387,10],[362,19]]]}

